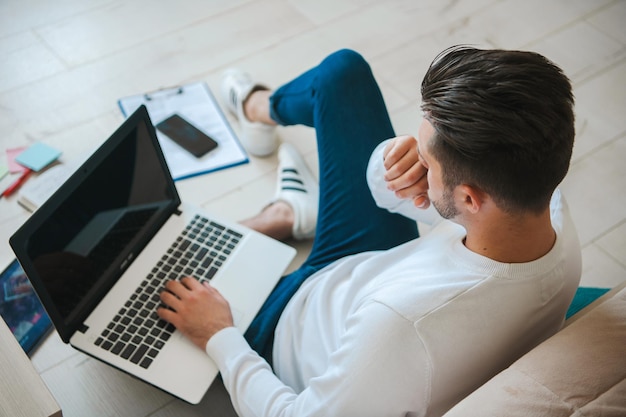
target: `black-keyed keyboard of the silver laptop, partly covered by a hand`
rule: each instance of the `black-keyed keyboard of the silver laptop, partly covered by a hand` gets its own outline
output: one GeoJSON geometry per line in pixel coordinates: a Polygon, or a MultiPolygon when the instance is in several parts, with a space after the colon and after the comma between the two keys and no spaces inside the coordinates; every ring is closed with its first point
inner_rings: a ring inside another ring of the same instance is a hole
{"type": "Polygon", "coordinates": [[[185,276],[211,280],[241,238],[238,232],[196,216],[94,343],[148,368],[175,330],[156,313],[163,306],[160,293],[165,282],[185,276]]]}

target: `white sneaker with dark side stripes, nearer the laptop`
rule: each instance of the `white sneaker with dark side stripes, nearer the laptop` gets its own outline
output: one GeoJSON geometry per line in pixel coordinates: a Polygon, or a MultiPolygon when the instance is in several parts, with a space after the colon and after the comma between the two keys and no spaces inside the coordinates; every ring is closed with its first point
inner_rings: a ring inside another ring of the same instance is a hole
{"type": "Polygon", "coordinates": [[[294,239],[315,236],[318,199],[317,180],[304,159],[291,144],[283,143],[278,150],[278,180],[274,201],[284,201],[293,209],[294,239]]]}

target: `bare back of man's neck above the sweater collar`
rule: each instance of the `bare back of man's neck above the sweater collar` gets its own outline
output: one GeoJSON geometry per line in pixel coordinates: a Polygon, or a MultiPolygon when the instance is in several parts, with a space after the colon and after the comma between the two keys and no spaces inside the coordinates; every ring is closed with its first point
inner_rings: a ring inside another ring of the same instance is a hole
{"type": "Polygon", "coordinates": [[[550,211],[511,216],[501,211],[464,225],[465,246],[498,262],[524,263],[541,258],[554,246],[550,211]]]}

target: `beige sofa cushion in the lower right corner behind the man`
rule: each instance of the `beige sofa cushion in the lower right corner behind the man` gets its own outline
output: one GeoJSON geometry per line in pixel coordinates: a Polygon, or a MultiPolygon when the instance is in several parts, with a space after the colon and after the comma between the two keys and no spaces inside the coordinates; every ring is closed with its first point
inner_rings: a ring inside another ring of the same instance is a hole
{"type": "Polygon", "coordinates": [[[626,282],[445,417],[625,417],[626,282]]]}

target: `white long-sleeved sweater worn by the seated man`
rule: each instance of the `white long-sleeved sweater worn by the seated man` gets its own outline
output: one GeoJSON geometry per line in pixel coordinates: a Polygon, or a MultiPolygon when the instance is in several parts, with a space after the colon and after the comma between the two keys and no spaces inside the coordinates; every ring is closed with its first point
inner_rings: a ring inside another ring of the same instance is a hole
{"type": "MultiPolygon", "coordinates": [[[[368,180],[390,211],[384,144],[368,180]]],[[[241,416],[437,416],[563,324],[580,279],[580,247],[567,206],[551,202],[557,240],[541,259],[504,264],[469,251],[465,230],[441,220],[388,251],[339,260],[311,276],[276,329],[274,366],[234,328],[211,338],[241,416]]]]}

